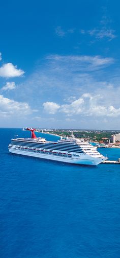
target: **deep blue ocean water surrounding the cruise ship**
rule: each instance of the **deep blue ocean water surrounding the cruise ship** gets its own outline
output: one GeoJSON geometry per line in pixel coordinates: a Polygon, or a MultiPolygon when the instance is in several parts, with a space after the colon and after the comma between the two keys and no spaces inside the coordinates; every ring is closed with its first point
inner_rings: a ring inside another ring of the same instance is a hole
{"type": "MultiPolygon", "coordinates": [[[[0,258],[119,258],[120,165],[10,154],[15,134],[29,132],[0,129],[0,258]]],[[[120,149],[100,152],[120,157],[120,149]]]]}

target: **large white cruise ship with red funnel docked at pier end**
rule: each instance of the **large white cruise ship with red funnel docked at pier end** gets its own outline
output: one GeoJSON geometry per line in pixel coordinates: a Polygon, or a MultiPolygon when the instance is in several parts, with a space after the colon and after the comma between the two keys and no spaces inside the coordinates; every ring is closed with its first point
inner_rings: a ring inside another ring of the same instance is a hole
{"type": "Polygon", "coordinates": [[[50,142],[36,137],[35,129],[26,130],[31,132],[31,138],[11,139],[9,152],[78,165],[98,165],[107,159],[97,151],[97,147],[84,142],[84,139],[75,138],[73,134],[71,137],[61,137],[57,142],[50,142]]]}

